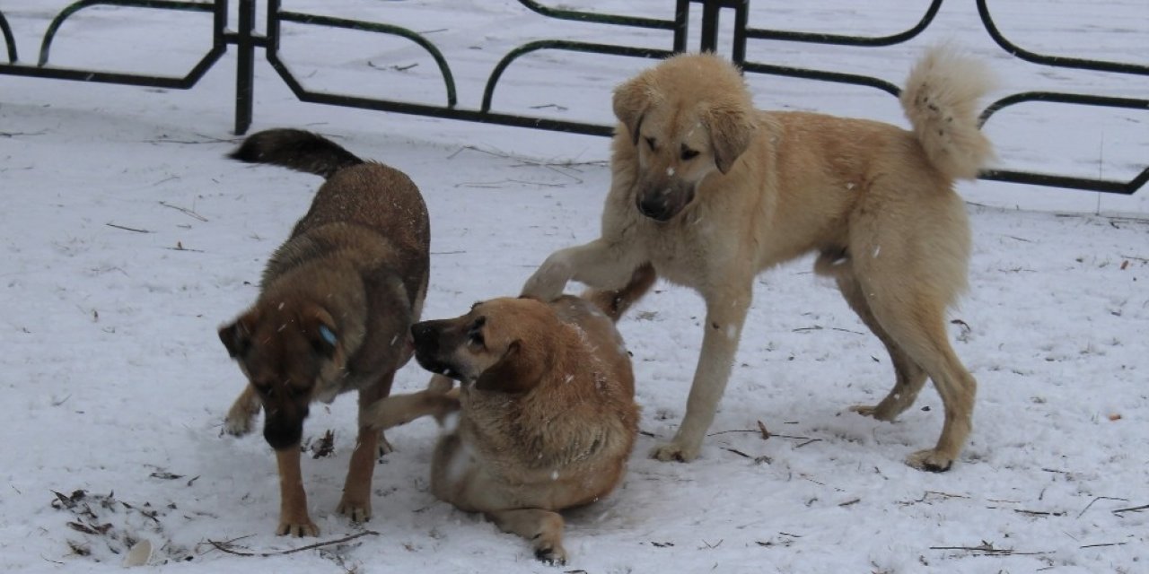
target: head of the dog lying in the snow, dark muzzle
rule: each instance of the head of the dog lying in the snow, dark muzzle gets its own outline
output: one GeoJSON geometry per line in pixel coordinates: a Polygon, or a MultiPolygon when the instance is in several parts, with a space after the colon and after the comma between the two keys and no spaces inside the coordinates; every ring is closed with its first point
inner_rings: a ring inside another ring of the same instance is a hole
{"type": "Polygon", "coordinates": [[[554,311],[538,300],[494,298],[462,317],[417,323],[411,336],[427,371],[478,390],[526,393],[549,370],[557,328],[554,311]]]}

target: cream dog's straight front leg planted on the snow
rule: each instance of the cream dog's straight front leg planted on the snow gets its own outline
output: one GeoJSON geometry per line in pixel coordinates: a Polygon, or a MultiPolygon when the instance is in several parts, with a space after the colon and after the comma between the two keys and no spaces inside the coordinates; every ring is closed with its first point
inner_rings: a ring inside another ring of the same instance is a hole
{"type": "Polygon", "coordinates": [[[688,463],[699,456],[707,429],[714,422],[718,401],[726,390],[730,370],[742,335],[742,324],[750,308],[750,281],[740,290],[725,289],[707,296],[705,333],[702,352],[691,383],[691,396],[686,402],[686,416],[678,427],[674,439],[655,447],[650,456],[658,460],[688,463]]]}

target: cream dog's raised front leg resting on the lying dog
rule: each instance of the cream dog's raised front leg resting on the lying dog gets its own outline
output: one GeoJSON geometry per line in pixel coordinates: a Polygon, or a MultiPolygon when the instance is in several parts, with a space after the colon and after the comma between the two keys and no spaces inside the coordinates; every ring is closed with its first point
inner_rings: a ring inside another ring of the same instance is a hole
{"type": "Polygon", "coordinates": [[[596,289],[620,289],[643,263],[637,250],[600,238],[550,254],[523,285],[523,295],[554,301],[572,279],[596,289]]]}

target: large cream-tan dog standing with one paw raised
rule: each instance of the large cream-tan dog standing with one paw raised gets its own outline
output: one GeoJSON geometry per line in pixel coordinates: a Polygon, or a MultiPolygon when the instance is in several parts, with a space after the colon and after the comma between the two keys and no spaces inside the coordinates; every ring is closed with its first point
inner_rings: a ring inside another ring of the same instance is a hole
{"type": "Polygon", "coordinates": [[[970,257],[954,180],[974,178],[993,155],[976,115],[988,88],[977,62],[931,49],[902,93],[910,132],[758,111],[730,62],[671,57],[615,92],[619,124],[601,236],[552,254],[523,293],[550,298],[571,279],[619,288],[651,263],[702,295],[705,335],[686,414],[653,453],[686,461],[699,455],[726,387],[755,276],[817,253],[816,271],[836,279],[896,373],[885,400],[854,410],[892,420],[933,379],[946,411],[941,437],[908,463],[944,471],[970,433],[976,390],[946,332],[970,257]]]}

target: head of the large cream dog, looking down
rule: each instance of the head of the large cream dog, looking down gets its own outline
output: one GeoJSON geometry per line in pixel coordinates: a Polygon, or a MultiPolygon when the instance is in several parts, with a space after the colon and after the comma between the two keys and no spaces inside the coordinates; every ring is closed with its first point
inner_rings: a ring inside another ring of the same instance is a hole
{"type": "Polygon", "coordinates": [[[681,212],[703,178],[728,172],[755,130],[742,77],[714,54],[683,54],[643,71],[615,90],[614,108],[637,148],[635,205],[658,222],[681,212]]]}

